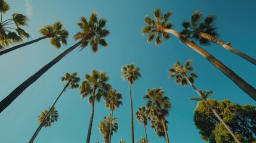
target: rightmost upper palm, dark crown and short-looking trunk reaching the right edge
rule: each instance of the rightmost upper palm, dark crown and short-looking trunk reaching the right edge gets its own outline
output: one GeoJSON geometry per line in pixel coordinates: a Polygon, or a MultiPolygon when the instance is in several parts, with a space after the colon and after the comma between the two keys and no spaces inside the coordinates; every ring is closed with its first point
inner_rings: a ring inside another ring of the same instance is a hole
{"type": "Polygon", "coordinates": [[[182,22],[184,29],[180,34],[187,39],[199,41],[201,45],[210,45],[209,41],[214,42],[256,65],[256,60],[254,58],[233,48],[229,42],[225,43],[218,38],[218,34],[215,31],[217,28],[213,25],[216,18],[217,17],[215,15],[208,15],[206,18],[202,19],[201,11],[197,10],[191,15],[190,21],[184,20],[182,22]]]}

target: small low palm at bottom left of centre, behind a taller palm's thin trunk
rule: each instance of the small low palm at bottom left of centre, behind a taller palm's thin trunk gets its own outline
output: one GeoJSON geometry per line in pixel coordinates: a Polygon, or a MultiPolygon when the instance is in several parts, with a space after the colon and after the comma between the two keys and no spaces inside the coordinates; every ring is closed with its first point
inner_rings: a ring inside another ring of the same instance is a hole
{"type": "Polygon", "coordinates": [[[109,143],[109,136],[112,136],[113,132],[118,131],[118,123],[115,123],[116,119],[116,117],[114,117],[113,119],[111,119],[111,117],[103,117],[100,125],[98,125],[98,130],[100,130],[100,134],[103,134],[104,143],[109,143]]]}

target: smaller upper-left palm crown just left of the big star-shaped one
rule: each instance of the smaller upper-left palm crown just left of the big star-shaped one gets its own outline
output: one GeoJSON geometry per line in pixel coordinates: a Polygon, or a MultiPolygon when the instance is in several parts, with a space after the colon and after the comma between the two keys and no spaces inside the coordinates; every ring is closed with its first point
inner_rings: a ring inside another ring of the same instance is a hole
{"type": "Polygon", "coordinates": [[[56,21],[53,25],[46,25],[42,29],[39,29],[39,32],[51,38],[51,45],[55,48],[60,48],[60,42],[67,45],[67,37],[69,36],[69,32],[66,29],[62,29],[62,27],[63,24],[60,21],[56,21]]]}

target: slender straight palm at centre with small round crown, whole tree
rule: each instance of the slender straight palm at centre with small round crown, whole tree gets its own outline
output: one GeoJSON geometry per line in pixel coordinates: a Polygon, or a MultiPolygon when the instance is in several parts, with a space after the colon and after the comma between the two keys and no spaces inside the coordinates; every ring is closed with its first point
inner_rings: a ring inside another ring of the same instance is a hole
{"type": "Polygon", "coordinates": [[[121,76],[125,80],[128,77],[129,83],[129,101],[131,106],[131,143],[134,143],[134,132],[133,132],[133,111],[132,111],[132,98],[131,98],[131,85],[135,80],[138,80],[138,77],[141,77],[141,74],[138,72],[140,68],[134,67],[134,63],[127,64],[125,67],[122,67],[121,71],[124,71],[121,76]]]}

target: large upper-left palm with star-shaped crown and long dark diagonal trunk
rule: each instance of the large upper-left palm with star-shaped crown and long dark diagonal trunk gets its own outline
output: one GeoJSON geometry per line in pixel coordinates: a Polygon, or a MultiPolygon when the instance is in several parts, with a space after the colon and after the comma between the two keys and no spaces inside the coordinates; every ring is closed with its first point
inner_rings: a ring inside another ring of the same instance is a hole
{"type": "Polygon", "coordinates": [[[46,64],[44,67],[42,67],[42,69],[38,70],[35,74],[30,76],[16,89],[14,89],[7,97],[4,98],[4,100],[0,102],[0,113],[6,107],[8,107],[8,105],[10,105],[11,102],[13,102],[26,88],[28,88],[30,85],[32,85],[33,82],[39,79],[42,74],[53,67],[56,63],[58,63],[58,61],[65,57],[65,55],[69,54],[69,52],[73,51],[73,49],[79,45],[81,45],[81,48],[84,49],[85,46],[90,43],[92,52],[98,51],[98,45],[105,47],[107,46],[107,43],[103,38],[109,35],[109,30],[103,29],[103,27],[106,25],[106,20],[104,18],[98,20],[97,13],[94,12],[91,14],[89,21],[87,21],[84,16],[81,16],[81,22],[77,24],[82,29],[82,32],[76,33],[74,38],[75,40],[81,39],[81,41],[75,43],[73,46],[70,46],[70,48],[66,49],[66,51],[62,52],[60,55],[50,61],[50,63],[46,64]]]}

